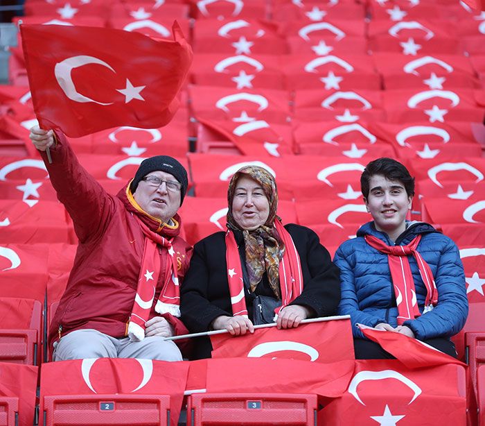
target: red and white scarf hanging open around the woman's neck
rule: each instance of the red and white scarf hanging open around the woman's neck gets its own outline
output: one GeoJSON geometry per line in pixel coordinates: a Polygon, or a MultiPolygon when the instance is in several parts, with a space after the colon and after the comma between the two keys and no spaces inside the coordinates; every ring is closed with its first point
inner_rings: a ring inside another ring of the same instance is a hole
{"type": "MultiPolygon", "coordinates": [[[[278,316],[283,307],[300,296],[301,291],[303,291],[303,276],[301,275],[300,257],[290,233],[285,230],[278,219],[274,221],[274,225],[281,241],[285,244],[285,253],[279,264],[281,306],[274,310],[275,315],[278,316]]],[[[231,230],[226,232],[226,247],[227,281],[231,294],[232,313],[233,315],[247,317],[243,266],[241,265],[238,245],[231,230]]]]}

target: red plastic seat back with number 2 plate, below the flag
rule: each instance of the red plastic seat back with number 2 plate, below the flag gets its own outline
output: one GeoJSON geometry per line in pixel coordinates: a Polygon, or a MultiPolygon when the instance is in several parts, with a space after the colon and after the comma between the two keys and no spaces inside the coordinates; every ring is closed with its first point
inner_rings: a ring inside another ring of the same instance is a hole
{"type": "Polygon", "coordinates": [[[45,395],[44,426],[166,426],[168,395],[45,395]]]}

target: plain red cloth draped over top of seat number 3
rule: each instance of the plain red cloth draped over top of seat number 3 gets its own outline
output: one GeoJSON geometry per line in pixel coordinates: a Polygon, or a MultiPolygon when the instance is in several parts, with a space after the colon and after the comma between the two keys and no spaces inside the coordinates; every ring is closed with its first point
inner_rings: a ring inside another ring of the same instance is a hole
{"type": "Polygon", "coordinates": [[[317,393],[338,398],[349,385],[354,365],[351,359],[329,364],[281,358],[208,359],[207,392],[317,393]]]}

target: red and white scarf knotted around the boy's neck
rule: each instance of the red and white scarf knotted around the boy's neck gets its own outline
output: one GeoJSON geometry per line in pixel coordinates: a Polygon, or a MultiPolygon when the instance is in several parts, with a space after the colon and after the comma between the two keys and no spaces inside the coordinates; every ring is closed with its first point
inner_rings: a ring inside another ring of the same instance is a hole
{"type": "Polygon", "coordinates": [[[433,273],[425,259],[416,250],[420,240],[421,235],[418,235],[407,246],[388,246],[384,241],[373,235],[365,236],[365,241],[367,241],[369,246],[387,254],[398,305],[398,325],[403,325],[405,321],[421,315],[416,301],[416,288],[414,287],[414,279],[407,256],[413,255],[416,258],[421,279],[427,290],[424,312],[431,310],[438,303],[438,290],[434,283],[433,273]]]}

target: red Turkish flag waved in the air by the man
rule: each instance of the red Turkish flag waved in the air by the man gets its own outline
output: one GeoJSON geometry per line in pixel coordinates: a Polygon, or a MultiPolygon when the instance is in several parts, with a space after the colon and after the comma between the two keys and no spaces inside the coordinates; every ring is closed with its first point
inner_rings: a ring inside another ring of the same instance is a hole
{"type": "Polygon", "coordinates": [[[164,126],[192,58],[176,22],[173,33],[168,42],[109,28],[21,25],[40,127],[79,137],[116,126],[164,126]]]}

